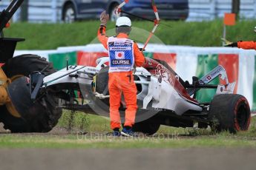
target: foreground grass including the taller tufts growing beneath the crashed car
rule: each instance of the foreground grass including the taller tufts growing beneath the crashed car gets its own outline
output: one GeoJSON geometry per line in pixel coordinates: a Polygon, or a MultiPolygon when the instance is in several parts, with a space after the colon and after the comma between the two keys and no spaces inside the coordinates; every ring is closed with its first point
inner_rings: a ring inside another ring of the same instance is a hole
{"type": "Polygon", "coordinates": [[[58,124],[59,129],[70,129],[70,132],[62,134],[57,130],[47,134],[1,134],[0,148],[256,148],[255,118],[248,132],[236,135],[229,132],[214,134],[210,129],[161,126],[153,136],[128,138],[108,135],[111,130],[107,118],[77,112],[70,123],[70,115],[65,111],[58,124]]]}

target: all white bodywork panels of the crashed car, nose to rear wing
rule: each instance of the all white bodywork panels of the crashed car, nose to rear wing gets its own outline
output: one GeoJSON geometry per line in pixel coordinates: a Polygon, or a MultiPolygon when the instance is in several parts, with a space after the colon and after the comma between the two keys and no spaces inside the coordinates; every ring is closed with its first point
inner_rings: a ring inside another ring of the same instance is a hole
{"type": "MultiPolygon", "coordinates": [[[[105,67],[107,62],[108,58],[99,58],[96,61],[96,67],[69,66],[61,69],[52,75],[46,76],[42,87],[47,88],[56,84],[92,86],[93,75],[96,75],[102,67],[105,67]]],[[[223,67],[217,67],[209,75],[200,79],[200,84],[206,83],[205,81],[211,81],[211,79],[216,78],[218,75],[222,75],[222,78],[227,81],[226,71],[223,67]],[[211,75],[211,78],[209,75],[211,75]]],[[[138,105],[141,109],[167,109],[174,111],[177,115],[183,115],[188,110],[194,110],[196,112],[203,110],[199,103],[184,98],[183,95],[180,95],[174,89],[174,86],[171,86],[168,80],[161,78],[160,75],[151,75],[147,69],[137,67],[134,76],[137,76],[135,83],[137,85],[140,84],[142,87],[137,94],[138,105]]],[[[227,81],[227,84],[228,86],[218,86],[217,94],[233,92],[234,84],[229,84],[229,81],[227,81]],[[220,90],[221,88],[222,91],[220,90]]],[[[93,88],[91,89],[93,91],[93,88]]],[[[94,92],[93,94],[98,98],[109,97],[98,92],[94,92]]]]}

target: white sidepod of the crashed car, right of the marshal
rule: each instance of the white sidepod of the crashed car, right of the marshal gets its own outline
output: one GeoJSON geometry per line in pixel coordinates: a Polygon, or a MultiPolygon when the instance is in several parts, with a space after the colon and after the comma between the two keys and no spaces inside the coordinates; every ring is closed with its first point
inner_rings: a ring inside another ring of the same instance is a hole
{"type": "Polygon", "coordinates": [[[202,111],[202,107],[186,101],[179,95],[168,81],[159,81],[158,76],[151,76],[151,81],[147,81],[145,75],[150,75],[150,73],[143,67],[138,68],[134,75],[140,78],[140,81],[135,83],[142,84],[142,92],[137,95],[137,98],[143,101],[143,109],[147,109],[148,104],[152,101],[152,108],[172,110],[177,115],[183,115],[189,109],[202,111]]]}

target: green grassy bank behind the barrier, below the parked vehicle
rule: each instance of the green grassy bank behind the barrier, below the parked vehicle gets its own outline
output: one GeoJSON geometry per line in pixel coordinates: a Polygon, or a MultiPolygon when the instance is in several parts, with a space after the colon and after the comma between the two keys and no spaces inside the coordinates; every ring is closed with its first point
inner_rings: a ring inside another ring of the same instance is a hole
{"type": "MultiPolygon", "coordinates": [[[[163,21],[171,25],[160,25],[156,34],[164,44],[188,45],[197,47],[220,47],[223,35],[223,21],[163,21]]],[[[255,40],[254,27],[256,21],[241,20],[234,27],[227,27],[227,39],[230,41],[255,40]]],[[[151,31],[153,24],[148,21],[134,21],[133,27],[151,31]]],[[[19,50],[53,50],[57,47],[79,46],[90,44],[96,39],[99,21],[81,21],[73,24],[11,24],[5,30],[6,37],[26,38],[18,44],[19,50]]],[[[108,29],[114,28],[114,23],[108,23],[108,29]]],[[[131,35],[136,35],[132,30],[131,35]]],[[[112,31],[111,33],[114,33],[112,31]]],[[[145,41],[148,33],[142,33],[141,41],[145,41]]],[[[95,41],[97,42],[97,41],[95,41]]]]}

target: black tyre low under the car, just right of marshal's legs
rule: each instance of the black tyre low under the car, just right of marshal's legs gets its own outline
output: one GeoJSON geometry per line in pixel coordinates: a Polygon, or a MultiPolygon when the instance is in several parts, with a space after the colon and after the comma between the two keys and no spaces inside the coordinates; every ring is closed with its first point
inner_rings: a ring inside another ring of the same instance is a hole
{"type": "Polygon", "coordinates": [[[152,117],[148,120],[135,123],[132,129],[134,132],[142,132],[146,135],[153,135],[160,129],[160,123],[158,123],[154,117],[152,117]]]}

